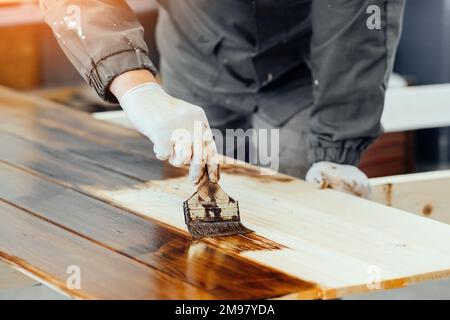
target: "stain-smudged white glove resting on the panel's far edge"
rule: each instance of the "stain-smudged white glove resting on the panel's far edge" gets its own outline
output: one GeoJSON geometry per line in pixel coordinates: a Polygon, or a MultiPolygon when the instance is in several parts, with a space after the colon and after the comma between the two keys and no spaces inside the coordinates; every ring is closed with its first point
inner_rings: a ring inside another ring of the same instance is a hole
{"type": "Polygon", "coordinates": [[[351,165],[317,162],[306,174],[306,181],[320,189],[331,188],[363,198],[370,196],[369,178],[351,165]]]}

